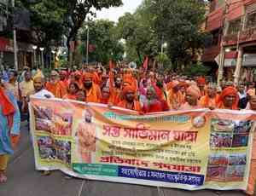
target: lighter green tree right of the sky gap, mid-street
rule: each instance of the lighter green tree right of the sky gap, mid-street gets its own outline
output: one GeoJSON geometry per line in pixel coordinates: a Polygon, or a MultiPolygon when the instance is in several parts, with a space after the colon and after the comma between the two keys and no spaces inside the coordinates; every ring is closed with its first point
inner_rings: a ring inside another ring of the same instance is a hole
{"type": "Polygon", "coordinates": [[[125,39],[128,61],[143,63],[145,55],[157,55],[158,43],[150,24],[151,16],[143,3],[134,14],[126,13],[119,18],[119,37],[125,39]]]}

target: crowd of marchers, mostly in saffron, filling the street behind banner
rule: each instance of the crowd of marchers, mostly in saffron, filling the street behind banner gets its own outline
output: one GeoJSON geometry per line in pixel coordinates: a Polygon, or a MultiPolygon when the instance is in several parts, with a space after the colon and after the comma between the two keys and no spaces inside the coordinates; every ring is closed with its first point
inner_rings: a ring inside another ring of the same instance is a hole
{"type": "MultiPolygon", "coordinates": [[[[6,182],[9,155],[19,140],[20,112],[27,112],[30,95],[61,98],[123,107],[143,115],[152,112],[199,108],[256,110],[255,84],[224,82],[221,86],[206,78],[187,77],[175,72],[160,74],[154,70],[129,66],[86,66],[81,69],[51,71],[45,77],[40,70],[28,67],[18,77],[9,70],[0,85],[0,183],[6,182]],[[17,104],[18,103],[18,104],[17,104]]],[[[256,147],[256,137],[253,140],[256,147]]],[[[248,194],[253,194],[256,177],[256,154],[253,154],[248,194]]]]}

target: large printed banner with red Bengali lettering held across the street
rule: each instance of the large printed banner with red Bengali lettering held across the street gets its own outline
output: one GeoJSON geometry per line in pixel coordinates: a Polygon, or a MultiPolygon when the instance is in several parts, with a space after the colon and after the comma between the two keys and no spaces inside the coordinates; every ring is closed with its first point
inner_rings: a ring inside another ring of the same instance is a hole
{"type": "Polygon", "coordinates": [[[30,101],[37,170],[188,190],[247,189],[252,111],[138,115],[101,104],[30,101]]]}

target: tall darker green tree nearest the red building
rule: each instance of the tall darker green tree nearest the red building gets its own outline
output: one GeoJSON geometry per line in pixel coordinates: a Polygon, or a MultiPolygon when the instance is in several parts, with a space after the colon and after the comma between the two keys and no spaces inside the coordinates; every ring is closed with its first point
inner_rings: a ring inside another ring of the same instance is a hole
{"type": "Polygon", "coordinates": [[[186,64],[203,47],[207,35],[200,31],[205,17],[203,0],[155,0],[149,6],[154,13],[154,30],[161,43],[168,43],[168,56],[174,64],[186,64]]]}

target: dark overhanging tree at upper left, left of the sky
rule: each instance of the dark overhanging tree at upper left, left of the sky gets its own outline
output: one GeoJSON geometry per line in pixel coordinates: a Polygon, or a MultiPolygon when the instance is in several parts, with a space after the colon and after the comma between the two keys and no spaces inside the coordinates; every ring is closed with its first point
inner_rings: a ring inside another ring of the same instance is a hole
{"type": "Polygon", "coordinates": [[[58,45],[61,36],[67,36],[68,56],[70,41],[76,40],[79,28],[87,15],[94,16],[92,9],[101,10],[122,4],[121,0],[20,0],[22,6],[32,14],[32,31],[36,32],[38,43],[58,45]],[[32,3],[34,2],[34,3],[32,3]]]}

